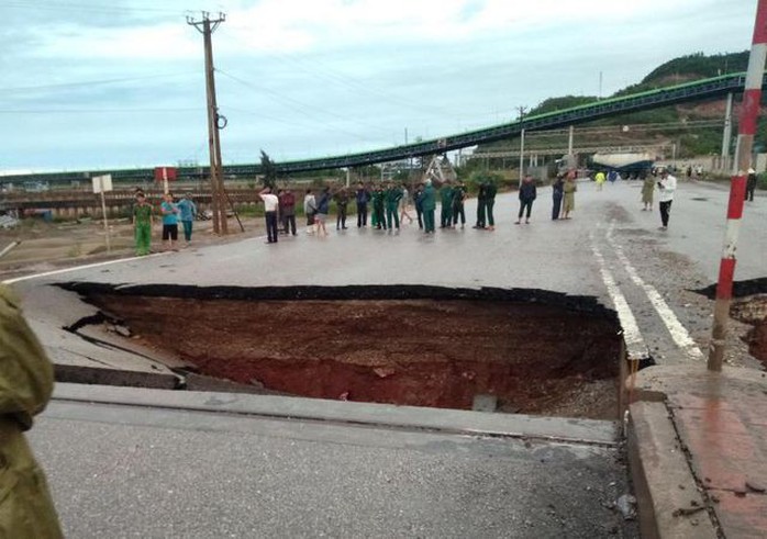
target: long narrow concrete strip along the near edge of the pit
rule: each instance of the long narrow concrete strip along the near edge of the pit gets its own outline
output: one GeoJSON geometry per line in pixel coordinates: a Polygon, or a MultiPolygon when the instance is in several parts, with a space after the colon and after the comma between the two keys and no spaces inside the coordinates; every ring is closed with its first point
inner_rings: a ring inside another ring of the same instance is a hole
{"type": "Polygon", "coordinates": [[[54,400],[545,439],[607,447],[618,443],[618,425],[593,419],[563,419],[292,396],[67,383],[56,384],[54,400]]]}

